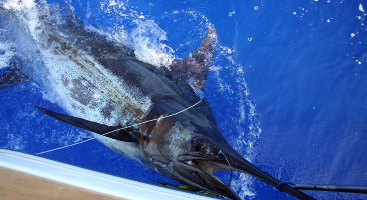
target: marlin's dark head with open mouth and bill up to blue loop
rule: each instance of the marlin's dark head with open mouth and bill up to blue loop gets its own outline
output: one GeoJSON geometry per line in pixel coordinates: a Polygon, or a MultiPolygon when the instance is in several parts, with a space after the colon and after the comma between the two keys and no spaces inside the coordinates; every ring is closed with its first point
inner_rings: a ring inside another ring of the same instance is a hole
{"type": "Polygon", "coordinates": [[[272,185],[279,183],[237,153],[217,124],[195,109],[163,119],[156,126],[156,130],[162,130],[157,136],[156,149],[167,163],[163,174],[178,182],[235,200],[241,198],[214,172],[239,171],[272,185]]]}

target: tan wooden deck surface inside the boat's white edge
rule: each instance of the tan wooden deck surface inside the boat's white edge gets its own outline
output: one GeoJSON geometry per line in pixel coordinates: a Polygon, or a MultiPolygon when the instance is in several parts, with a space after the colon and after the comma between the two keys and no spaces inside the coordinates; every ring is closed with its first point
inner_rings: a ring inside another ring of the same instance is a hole
{"type": "Polygon", "coordinates": [[[122,200],[24,172],[0,167],[1,200],[122,200]]]}

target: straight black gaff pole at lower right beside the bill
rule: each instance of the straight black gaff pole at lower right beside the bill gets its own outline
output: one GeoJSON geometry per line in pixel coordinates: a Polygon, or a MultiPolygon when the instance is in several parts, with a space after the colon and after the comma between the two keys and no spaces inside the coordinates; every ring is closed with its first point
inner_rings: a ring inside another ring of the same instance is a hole
{"type": "Polygon", "coordinates": [[[366,185],[324,185],[324,184],[294,184],[298,190],[321,190],[331,192],[352,192],[367,194],[366,185]]]}

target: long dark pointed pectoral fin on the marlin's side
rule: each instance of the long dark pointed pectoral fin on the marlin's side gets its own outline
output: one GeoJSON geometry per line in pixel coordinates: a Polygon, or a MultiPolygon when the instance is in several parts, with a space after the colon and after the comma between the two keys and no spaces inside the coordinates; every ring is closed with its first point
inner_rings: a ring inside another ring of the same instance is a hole
{"type": "MultiPolygon", "coordinates": [[[[66,122],[68,124],[71,124],[71,125],[74,125],[80,128],[84,128],[88,131],[92,131],[100,135],[121,128],[121,126],[107,126],[104,124],[99,124],[94,121],[88,121],[88,120],[81,119],[78,117],[72,117],[66,114],[56,113],[51,110],[40,108],[38,106],[34,106],[34,107],[50,115],[51,117],[54,117],[55,119],[58,119],[60,121],[66,122]]],[[[119,140],[119,141],[123,141],[123,142],[138,142],[137,138],[135,138],[133,135],[126,132],[125,130],[111,132],[109,134],[106,134],[105,136],[112,138],[112,139],[119,140]]]]}

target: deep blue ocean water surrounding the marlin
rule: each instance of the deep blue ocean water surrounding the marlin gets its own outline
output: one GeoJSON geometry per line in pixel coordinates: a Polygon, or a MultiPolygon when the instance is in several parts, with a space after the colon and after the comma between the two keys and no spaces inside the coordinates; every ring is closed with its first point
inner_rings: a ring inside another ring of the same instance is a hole
{"type": "MultiPolygon", "coordinates": [[[[207,24],[213,24],[218,48],[204,90],[230,144],[282,181],[367,185],[364,1],[37,3],[54,12],[68,8],[84,25],[128,41],[143,59],[154,48],[168,58],[187,58],[200,46],[207,24]]],[[[7,40],[10,23],[0,26],[3,74],[24,51],[7,40]]],[[[1,148],[37,153],[91,137],[34,109],[65,112],[34,79],[0,90],[0,96],[1,148]]],[[[42,156],[150,183],[174,183],[95,140],[42,156]]],[[[229,180],[229,173],[219,176],[229,180]]],[[[231,186],[244,199],[294,199],[239,173],[231,186]]],[[[317,199],[367,199],[366,194],[306,193],[317,199]]]]}

